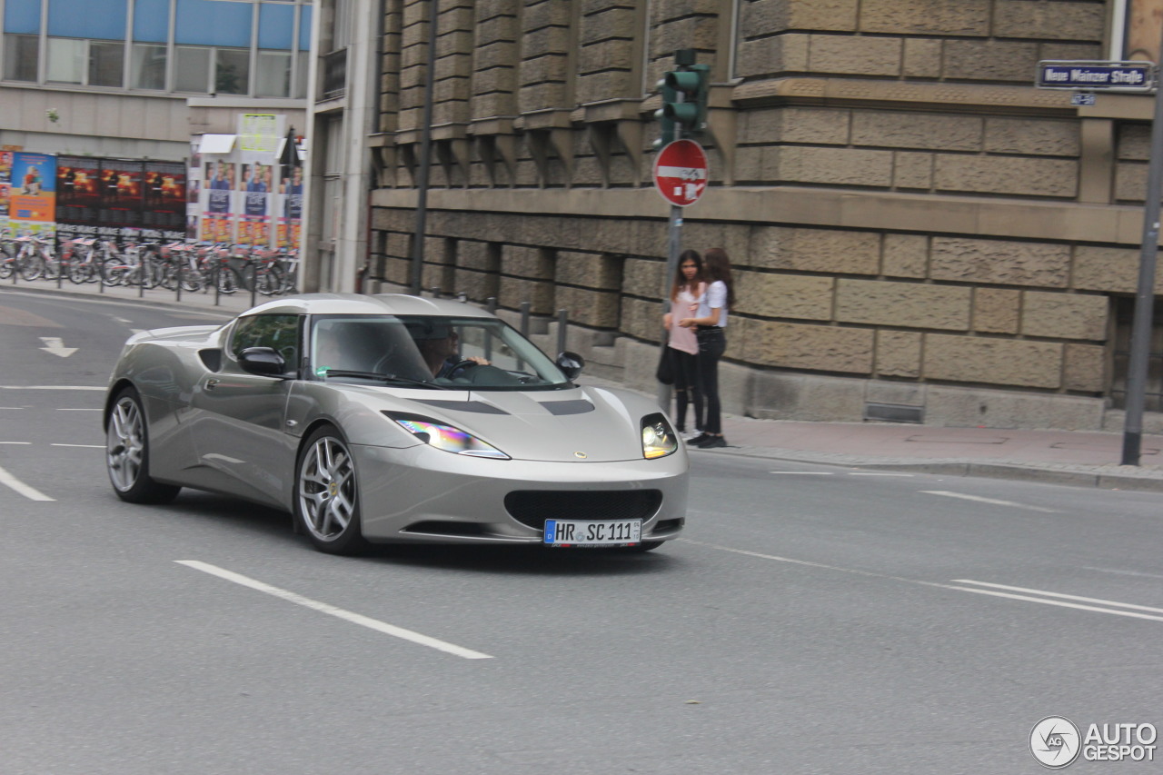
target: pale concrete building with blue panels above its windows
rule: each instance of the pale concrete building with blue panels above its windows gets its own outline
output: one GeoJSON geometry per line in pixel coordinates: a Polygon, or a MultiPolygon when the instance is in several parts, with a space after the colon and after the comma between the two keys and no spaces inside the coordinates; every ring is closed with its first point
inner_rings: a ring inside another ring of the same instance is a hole
{"type": "Polygon", "coordinates": [[[311,0],[0,0],[0,145],[184,161],[241,113],[305,129],[311,0]]]}

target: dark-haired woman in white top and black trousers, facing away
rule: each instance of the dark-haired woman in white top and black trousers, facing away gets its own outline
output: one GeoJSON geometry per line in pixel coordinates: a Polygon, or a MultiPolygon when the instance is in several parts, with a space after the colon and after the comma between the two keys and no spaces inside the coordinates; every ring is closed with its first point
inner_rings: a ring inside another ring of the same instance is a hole
{"type": "Polygon", "coordinates": [[[721,407],[719,404],[719,358],[727,349],[727,311],[735,303],[732,287],[730,261],[722,248],[712,248],[702,259],[702,275],[707,292],[693,318],[683,318],[678,325],[694,328],[699,342],[699,376],[702,398],[707,403],[704,434],[690,443],[700,449],[726,447],[723,439],[721,407]]]}

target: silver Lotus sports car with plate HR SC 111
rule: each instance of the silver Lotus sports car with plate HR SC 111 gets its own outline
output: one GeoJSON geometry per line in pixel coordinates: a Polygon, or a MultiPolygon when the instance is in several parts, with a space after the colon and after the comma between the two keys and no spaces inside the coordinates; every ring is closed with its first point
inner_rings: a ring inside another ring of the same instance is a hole
{"type": "Polygon", "coordinates": [[[224,326],[149,330],[109,381],[109,479],[291,512],[319,549],[370,542],[648,550],[686,514],[687,456],[652,401],[577,385],[481,310],[306,294],[224,326]]]}

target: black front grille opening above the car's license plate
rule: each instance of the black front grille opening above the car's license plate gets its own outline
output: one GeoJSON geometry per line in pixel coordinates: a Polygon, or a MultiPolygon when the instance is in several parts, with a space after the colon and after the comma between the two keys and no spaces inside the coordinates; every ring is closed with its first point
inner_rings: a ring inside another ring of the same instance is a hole
{"type": "Polygon", "coordinates": [[[537,529],[547,519],[650,519],[661,504],[661,490],[519,490],[505,496],[513,519],[537,529]]]}

